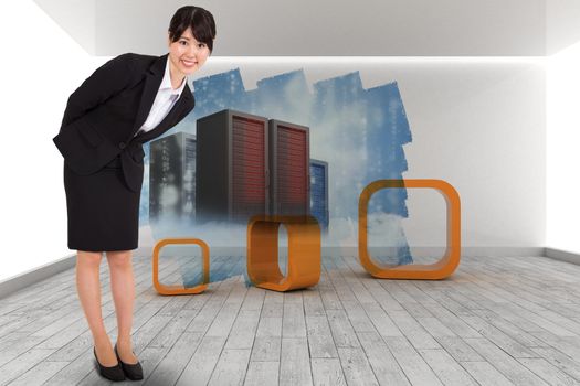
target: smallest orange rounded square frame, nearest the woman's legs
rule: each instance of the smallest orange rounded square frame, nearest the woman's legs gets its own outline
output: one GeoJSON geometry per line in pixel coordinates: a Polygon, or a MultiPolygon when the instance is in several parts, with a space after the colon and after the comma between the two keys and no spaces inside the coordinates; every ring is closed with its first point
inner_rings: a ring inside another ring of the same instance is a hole
{"type": "Polygon", "coordinates": [[[199,238],[164,238],[157,242],[154,247],[154,287],[160,294],[194,294],[201,293],[208,288],[210,282],[210,247],[199,238]],[[159,251],[169,244],[196,244],[201,248],[203,259],[203,282],[192,288],[183,286],[166,286],[159,282],[159,251]]]}

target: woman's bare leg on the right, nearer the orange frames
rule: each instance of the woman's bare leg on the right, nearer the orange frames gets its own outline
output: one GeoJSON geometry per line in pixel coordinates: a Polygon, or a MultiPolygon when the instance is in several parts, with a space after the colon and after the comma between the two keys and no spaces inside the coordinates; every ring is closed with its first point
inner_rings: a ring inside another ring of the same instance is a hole
{"type": "Polygon", "coordinates": [[[133,354],[130,331],[133,326],[133,304],[135,301],[135,279],[130,250],[107,251],[110,270],[110,290],[117,312],[117,351],[125,363],[137,363],[133,354]]]}

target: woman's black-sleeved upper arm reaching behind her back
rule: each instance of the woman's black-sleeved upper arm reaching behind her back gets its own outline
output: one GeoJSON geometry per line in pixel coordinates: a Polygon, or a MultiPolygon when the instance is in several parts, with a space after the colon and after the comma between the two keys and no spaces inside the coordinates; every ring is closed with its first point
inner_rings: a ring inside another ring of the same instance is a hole
{"type": "Polygon", "coordinates": [[[131,79],[131,54],[126,53],[112,58],[98,67],[71,94],[66,103],[61,130],[81,118],[86,111],[104,103],[125,89],[131,79]]]}

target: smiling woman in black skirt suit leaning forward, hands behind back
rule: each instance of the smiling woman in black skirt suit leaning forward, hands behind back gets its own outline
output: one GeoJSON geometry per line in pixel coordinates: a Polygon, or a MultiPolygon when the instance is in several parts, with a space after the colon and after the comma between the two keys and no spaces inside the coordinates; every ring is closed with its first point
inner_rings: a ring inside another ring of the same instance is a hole
{"type": "Polygon", "coordinates": [[[133,352],[135,281],[131,250],[138,245],[143,143],[161,136],[194,106],[188,75],[213,50],[212,14],[177,10],[162,56],[122,54],[97,68],[71,94],[53,141],[64,157],[68,248],[77,250],[76,287],[93,334],[102,376],[143,379],[133,352]],[[115,347],[103,324],[99,266],[105,253],[117,317],[115,347]]]}

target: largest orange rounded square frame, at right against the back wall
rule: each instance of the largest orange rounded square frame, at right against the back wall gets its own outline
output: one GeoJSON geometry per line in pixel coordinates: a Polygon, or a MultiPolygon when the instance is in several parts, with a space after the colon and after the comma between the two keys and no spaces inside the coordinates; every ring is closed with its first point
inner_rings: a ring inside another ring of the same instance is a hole
{"type": "Polygon", "coordinates": [[[455,189],[442,180],[377,180],[368,184],[360,193],[358,205],[358,248],[362,267],[380,279],[426,279],[437,280],[455,271],[461,258],[461,205],[455,189]],[[367,248],[367,211],[371,195],[387,187],[429,187],[439,190],[447,203],[447,245],[444,256],[434,264],[410,264],[401,266],[377,266],[367,248]]]}

